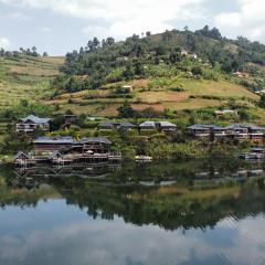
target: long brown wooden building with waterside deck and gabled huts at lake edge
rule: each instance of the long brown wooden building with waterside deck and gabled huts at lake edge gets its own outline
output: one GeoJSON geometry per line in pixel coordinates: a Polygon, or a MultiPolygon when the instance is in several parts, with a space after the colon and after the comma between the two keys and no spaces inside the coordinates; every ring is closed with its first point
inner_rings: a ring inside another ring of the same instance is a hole
{"type": "Polygon", "coordinates": [[[121,159],[120,155],[110,152],[112,141],[105,137],[87,137],[81,140],[74,140],[72,137],[39,137],[33,144],[38,155],[18,152],[14,157],[17,166],[113,163],[121,159]]]}

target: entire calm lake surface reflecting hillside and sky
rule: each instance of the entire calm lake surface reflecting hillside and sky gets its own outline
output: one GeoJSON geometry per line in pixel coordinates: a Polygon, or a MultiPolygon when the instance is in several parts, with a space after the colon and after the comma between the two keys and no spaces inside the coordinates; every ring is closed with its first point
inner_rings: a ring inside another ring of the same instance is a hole
{"type": "Polygon", "coordinates": [[[1,265],[265,264],[265,165],[0,168],[1,265]]]}

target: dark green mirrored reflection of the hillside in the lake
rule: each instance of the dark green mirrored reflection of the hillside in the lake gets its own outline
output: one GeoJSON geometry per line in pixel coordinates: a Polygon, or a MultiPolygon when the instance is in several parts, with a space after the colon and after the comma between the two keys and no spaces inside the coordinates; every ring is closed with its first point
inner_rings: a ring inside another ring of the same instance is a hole
{"type": "Polygon", "coordinates": [[[2,206],[34,206],[43,199],[64,198],[94,218],[118,215],[129,223],[167,230],[206,229],[227,216],[236,220],[265,212],[263,165],[193,162],[8,172],[2,206]]]}

